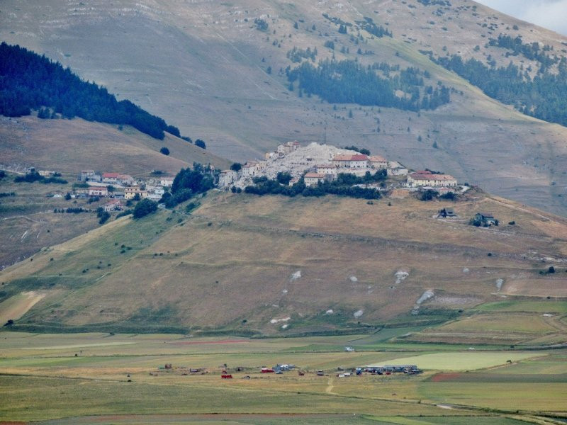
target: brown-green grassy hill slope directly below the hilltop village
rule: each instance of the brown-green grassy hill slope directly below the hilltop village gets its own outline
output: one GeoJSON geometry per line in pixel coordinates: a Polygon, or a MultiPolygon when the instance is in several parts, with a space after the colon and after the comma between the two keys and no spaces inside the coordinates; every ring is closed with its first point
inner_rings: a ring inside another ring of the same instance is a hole
{"type": "Polygon", "coordinates": [[[414,198],[368,205],[216,193],[201,202],[191,216],[111,222],[7,268],[5,297],[45,293],[16,324],[281,335],[421,324],[404,338],[565,341],[567,221],[559,217],[483,193],[456,203],[461,219],[451,222],[433,218],[449,204],[414,198]],[[467,225],[478,210],[501,225],[467,225]],[[539,304],[500,320],[514,309],[494,307],[502,300],[539,304]],[[488,316],[495,332],[484,325],[488,316]]]}

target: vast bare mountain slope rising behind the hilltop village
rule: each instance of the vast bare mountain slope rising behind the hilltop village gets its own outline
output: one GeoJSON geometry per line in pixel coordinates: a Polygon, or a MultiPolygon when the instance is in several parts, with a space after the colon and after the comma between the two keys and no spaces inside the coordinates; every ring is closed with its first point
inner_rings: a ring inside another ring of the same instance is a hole
{"type": "Polygon", "coordinates": [[[335,145],[367,147],[415,168],[444,169],[491,193],[564,215],[566,128],[488,98],[420,50],[536,69],[535,62],[506,55],[488,40],[500,33],[522,35],[524,42],[549,45],[561,57],[566,38],[473,1],[450,3],[121,0],[67,7],[55,1],[38,6],[12,0],[4,4],[0,35],[167,118],[223,157],[258,157],[282,140],[321,142],[326,137],[335,145]],[[373,18],[393,38],[376,38],[364,30],[359,36],[355,27],[339,33],[323,13],[348,23],[373,18]],[[266,31],[257,29],[256,18],[266,21],[266,31]],[[334,51],[325,47],[331,41],[334,51]],[[419,114],[300,98],[297,90],[288,91],[282,72],[296,66],[286,57],[293,47],[317,47],[315,62],[334,54],[362,64],[420,67],[430,72],[427,84],[442,81],[455,91],[449,105],[419,114]],[[343,47],[349,52],[343,53],[343,47]],[[368,54],[358,54],[359,48],[368,54]]]}

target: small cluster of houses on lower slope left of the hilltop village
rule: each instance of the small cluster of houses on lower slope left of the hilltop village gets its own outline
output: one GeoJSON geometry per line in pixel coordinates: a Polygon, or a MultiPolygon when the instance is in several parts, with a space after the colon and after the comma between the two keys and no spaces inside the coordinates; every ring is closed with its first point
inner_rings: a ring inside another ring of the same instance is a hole
{"type": "Polygon", "coordinates": [[[82,170],[77,180],[88,187],[77,188],[72,197],[77,198],[112,198],[102,205],[105,211],[117,211],[124,208],[123,200],[151,199],[160,200],[167,188],[174,181],[172,176],[159,176],[143,181],[134,179],[129,174],[96,173],[94,170],[82,170]]]}

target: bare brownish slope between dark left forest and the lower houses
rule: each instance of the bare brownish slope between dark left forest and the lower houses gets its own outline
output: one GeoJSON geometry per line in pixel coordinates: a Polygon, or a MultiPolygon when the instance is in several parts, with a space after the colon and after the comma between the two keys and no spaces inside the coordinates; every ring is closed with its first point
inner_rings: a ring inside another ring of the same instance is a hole
{"type": "Polygon", "coordinates": [[[200,162],[225,168],[228,161],[167,134],[156,140],[128,125],[35,117],[0,118],[0,165],[35,166],[76,176],[82,169],[147,176],[152,170],[176,174],[200,162]],[[169,156],[159,153],[167,147],[169,156]]]}

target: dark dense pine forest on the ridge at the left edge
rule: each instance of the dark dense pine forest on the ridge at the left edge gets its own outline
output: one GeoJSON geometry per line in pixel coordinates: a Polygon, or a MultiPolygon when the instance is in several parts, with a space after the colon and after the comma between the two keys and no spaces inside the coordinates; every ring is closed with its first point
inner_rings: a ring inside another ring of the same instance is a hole
{"type": "Polygon", "coordinates": [[[0,115],[17,117],[40,110],[40,118],[79,117],[101,123],[132,125],[157,139],[179,129],[130,101],[117,101],[106,89],[83,81],[69,68],[18,45],[0,45],[0,115]],[[52,108],[47,114],[45,108],[52,108]]]}

